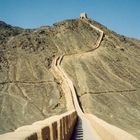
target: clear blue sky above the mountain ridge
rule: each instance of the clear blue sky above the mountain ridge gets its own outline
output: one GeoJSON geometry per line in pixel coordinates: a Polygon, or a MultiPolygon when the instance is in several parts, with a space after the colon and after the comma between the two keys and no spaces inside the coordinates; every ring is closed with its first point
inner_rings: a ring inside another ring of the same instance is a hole
{"type": "Polygon", "coordinates": [[[140,0],[0,0],[0,20],[24,28],[77,18],[82,11],[120,34],[140,39],[140,0]]]}

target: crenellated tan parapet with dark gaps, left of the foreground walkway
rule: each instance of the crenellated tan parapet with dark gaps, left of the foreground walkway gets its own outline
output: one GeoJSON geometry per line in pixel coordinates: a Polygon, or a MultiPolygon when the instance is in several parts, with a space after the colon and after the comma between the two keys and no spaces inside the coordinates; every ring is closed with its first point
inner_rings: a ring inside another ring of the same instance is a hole
{"type": "Polygon", "coordinates": [[[76,121],[76,111],[68,111],[2,134],[0,140],[69,140],[76,121]]]}

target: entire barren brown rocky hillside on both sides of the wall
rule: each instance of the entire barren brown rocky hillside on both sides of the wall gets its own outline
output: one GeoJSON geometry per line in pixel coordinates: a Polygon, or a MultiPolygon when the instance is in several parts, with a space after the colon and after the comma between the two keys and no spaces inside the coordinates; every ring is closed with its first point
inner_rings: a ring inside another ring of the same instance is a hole
{"type": "MultiPolygon", "coordinates": [[[[101,46],[90,55],[64,57],[85,112],[140,138],[140,41],[101,24],[101,46]]],[[[0,22],[0,133],[65,112],[65,94],[50,72],[57,55],[90,50],[100,37],[80,19],[37,29],[0,22]]]]}

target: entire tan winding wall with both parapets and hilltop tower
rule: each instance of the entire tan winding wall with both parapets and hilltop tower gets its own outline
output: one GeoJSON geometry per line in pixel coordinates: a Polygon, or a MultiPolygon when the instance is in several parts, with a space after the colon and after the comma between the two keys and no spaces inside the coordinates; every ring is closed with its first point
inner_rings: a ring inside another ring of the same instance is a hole
{"type": "MultiPolygon", "coordinates": [[[[83,135],[81,139],[84,140],[136,140],[135,137],[129,135],[125,131],[111,126],[106,122],[98,119],[92,114],[86,114],[80,108],[77,100],[77,95],[74,85],[65,71],[61,68],[61,62],[65,56],[68,55],[86,55],[93,53],[102,42],[104,32],[94,25],[90,24],[87,15],[82,13],[81,20],[100,32],[100,37],[96,45],[87,52],[62,54],[55,57],[52,62],[51,72],[55,78],[61,81],[61,86],[66,98],[67,112],[61,115],[52,116],[42,121],[33,123],[16,129],[14,132],[9,132],[0,135],[0,140],[69,140],[73,133],[77,120],[82,123],[83,135]]],[[[76,139],[76,138],[75,138],[76,139]]]]}

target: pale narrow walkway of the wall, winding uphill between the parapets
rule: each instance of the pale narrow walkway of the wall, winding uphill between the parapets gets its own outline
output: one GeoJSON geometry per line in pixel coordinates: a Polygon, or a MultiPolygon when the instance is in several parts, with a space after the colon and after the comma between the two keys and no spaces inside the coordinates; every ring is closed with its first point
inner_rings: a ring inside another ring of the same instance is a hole
{"type": "MultiPolygon", "coordinates": [[[[86,20],[83,20],[83,22],[86,22],[88,24],[88,22],[86,20]]],[[[77,114],[79,116],[79,119],[82,121],[82,128],[83,128],[83,139],[84,140],[90,140],[90,139],[95,139],[95,140],[100,140],[100,137],[98,136],[98,134],[96,133],[96,131],[93,129],[92,125],[90,124],[89,120],[85,117],[84,113],[82,112],[79,103],[78,103],[78,99],[77,99],[77,95],[74,89],[74,85],[72,83],[72,81],[68,78],[68,76],[66,75],[66,73],[61,69],[60,65],[61,65],[61,61],[63,60],[63,57],[65,55],[74,55],[74,54],[83,54],[87,53],[87,52],[91,52],[95,49],[97,49],[103,39],[103,31],[101,31],[100,29],[94,27],[93,25],[89,24],[92,28],[98,30],[100,32],[100,37],[98,39],[98,41],[96,42],[96,45],[93,46],[93,49],[91,49],[90,51],[86,51],[86,52],[80,52],[80,53],[71,53],[71,54],[64,54],[62,56],[59,56],[55,59],[55,65],[57,67],[57,70],[54,72],[55,75],[56,73],[59,73],[62,80],[67,82],[67,86],[66,88],[69,88],[72,94],[72,98],[73,98],[73,104],[74,107],[77,111],[77,114]]],[[[54,65],[54,64],[53,64],[54,65]]],[[[53,66],[54,67],[54,66],[53,66]]],[[[66,95],[68,93],[66,92],[66,95]]],[[[69,98],[66,96],[67,102],[69,101],[69,98]]],[[[71,108],[72,109],[72,108],[71,108]]]]}

